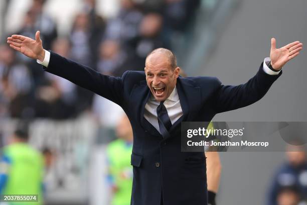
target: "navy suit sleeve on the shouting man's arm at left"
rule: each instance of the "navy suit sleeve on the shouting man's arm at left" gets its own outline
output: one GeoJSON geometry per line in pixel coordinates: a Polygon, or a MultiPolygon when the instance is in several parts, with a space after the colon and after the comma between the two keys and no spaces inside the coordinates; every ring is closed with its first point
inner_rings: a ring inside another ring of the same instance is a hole
{"type": "Polygon", "coordinates": [[[87,66],[68,60],[56,53],[50,52],[50,62],[45,71],[63,77],[85,89],[99,94],[119,106],[123,105],[123,81],[128,72],[122,77],[103,75],[87,66]]]}

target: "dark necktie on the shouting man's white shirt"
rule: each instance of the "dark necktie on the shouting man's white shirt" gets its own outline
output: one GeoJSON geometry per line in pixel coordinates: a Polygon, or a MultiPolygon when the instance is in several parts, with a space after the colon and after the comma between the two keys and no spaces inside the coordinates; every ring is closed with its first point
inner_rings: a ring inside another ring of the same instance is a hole
{"type": "Polygon", "coordinates": [[[172,127],[172,122],[168,115],[168,111],[166,107],[163,105],[164,101],[160,102],[160,105],[157,108],[157,115],[158,115],[158,123],[161,135],[166,137],[169,135],[169,129],[172,127]]]}

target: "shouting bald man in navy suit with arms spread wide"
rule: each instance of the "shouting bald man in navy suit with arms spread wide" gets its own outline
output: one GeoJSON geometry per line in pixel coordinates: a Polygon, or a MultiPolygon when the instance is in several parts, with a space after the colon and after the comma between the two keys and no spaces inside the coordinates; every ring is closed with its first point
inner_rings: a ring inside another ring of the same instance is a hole
{"type": "Polygon", "coordinates": [[[39,32],[36,40],[13,35],[8,43],[46,71],[122,107],[133,128],[133,205],[208,204],[206,157],[204,152],[181,152],[181,122],[209,122],[217,113],[259,100],[302,49],[298,41],[277,49],[272,38],[270,58],[256,75],[245,84],[225,86],[215,77],[179,76],[175,55],[163,48],[148,55],[144,72],[112,77],[45,51],[39,32]]]}

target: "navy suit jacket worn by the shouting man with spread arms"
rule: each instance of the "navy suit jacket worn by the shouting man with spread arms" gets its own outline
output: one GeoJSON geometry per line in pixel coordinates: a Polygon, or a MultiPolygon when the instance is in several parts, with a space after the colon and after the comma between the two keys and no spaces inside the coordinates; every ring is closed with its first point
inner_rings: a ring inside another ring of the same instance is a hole
{"type": "Polygon", "coordinates": [[[133,187],[131,204],[207,204],[204,152],[181,152],[181,122],[209,122],[217,114],[259,100],[281,75],[269,75],[262,64],[245,84],[222,85],[216,77],[179,77],[178,94],[183,116],[162,135],[143,117],[150,96],[145,73],[126,71],[122,77],[100,74],[51,52],[46,71],[64,77],[122,107],[133,129],[133,187]]]}

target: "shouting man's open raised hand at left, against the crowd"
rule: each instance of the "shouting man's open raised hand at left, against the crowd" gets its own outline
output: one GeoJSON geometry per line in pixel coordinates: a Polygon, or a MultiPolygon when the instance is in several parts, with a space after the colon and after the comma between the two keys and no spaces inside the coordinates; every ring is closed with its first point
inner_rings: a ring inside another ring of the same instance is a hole
{"type": "Polygon", "coordinates": [[[8,44],[10,44],[11,48],[21,52],[29,58],[38,59],[40,61],[43,61],[45,58],[45,51],[39,31],[35,34],[35,40],[21,35],[13,35],[8,38],[8,44]]]}

